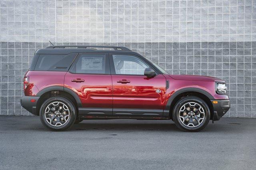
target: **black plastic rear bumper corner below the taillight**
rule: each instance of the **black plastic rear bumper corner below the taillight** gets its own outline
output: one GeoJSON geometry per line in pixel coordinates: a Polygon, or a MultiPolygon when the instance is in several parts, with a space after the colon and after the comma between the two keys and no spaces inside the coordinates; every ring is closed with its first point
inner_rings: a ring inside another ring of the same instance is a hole
{"type": "Polygon", "coordinates": [[[36,104],[40,96],[23,96],[20,99],[20,104],[22,107],[24,107],[27,111],[32,113],[33,115],[38,115],[36,113],[36,104]],[[36,100],[35,102],[31,102],[31,99],[36,100]]]}

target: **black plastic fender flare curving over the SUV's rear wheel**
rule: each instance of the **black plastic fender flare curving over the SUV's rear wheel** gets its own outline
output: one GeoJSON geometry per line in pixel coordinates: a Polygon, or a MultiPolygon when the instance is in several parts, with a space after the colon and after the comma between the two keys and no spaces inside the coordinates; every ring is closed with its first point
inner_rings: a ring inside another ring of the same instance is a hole
{"type": "Polygon", "coordinates": [[[42,96],[46,92],[50,92],[50,91],[54,91],[54,90],[58,90],[58,91],[62,91],[62,92],[67,92],[68,94],[70,94],[71,96],[74,97],[74,99],[76,100],[77,106],[78,107],[82,107],[82,102],[81,102],[80,98],[78,97],[78,95],[76,94],[76,92],[74,92],[73,90],[71,90],[69,88],[66,88],[64,86],[50,86],[50,87],[46,87],[46,88],[40,90],[36,94],[36,96],[42,96]]]}

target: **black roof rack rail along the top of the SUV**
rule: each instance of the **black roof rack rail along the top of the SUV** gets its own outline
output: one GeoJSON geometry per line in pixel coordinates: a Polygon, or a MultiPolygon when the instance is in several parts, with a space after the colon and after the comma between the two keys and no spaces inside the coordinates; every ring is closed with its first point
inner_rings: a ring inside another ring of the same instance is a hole
{"type": "Polygon", "coordinates": [[[46,49],[64,49],[64,48],[77,48],[77,49],[86,49],[91,47],[97,47],[97,48],[112,48],[115,51],[131,51],[130,49],[126,47],[116,47],[116,46],[98,46],[98,45],[54,45],[46,47],[46,49]]]}

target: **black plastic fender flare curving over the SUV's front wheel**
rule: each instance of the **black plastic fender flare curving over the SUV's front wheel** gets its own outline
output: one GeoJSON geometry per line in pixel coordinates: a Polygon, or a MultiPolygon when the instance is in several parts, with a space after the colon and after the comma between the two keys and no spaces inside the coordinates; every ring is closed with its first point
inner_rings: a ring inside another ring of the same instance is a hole
{"type": "Polygon", "coordinates": [[[174,92],[174,94],[172,94],[172,96],[168,99],[168,102],[166,103],[165,109],[166,109],[166,110],[170,110],[171,105],[172,105],[172,102],[174,101],[174,99],[175,99],[179,94],[184,93],[184,92],[198,92],[198,93],[204,94],[204,95],[207,96],[210,100],[214,99],[214,97],[213,97],[209,92],[206,92],[206,91],[203,90],[203,89],[200,89],[200,88],[193,88],[193,87],[182,88],[182,89],[177,90],[176,92],[174,92]]]}

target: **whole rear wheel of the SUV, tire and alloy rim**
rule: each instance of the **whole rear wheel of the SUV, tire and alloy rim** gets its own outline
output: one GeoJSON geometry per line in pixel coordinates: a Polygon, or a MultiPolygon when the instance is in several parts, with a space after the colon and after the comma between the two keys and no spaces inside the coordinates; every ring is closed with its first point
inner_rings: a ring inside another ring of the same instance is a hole
{"type": "Polygon", "coordinates": [[[52,131],[64,131],[74,124],[76,109],[70,100],[54,96],[41,105],[40,120],[45,127],[52,131]]]}

